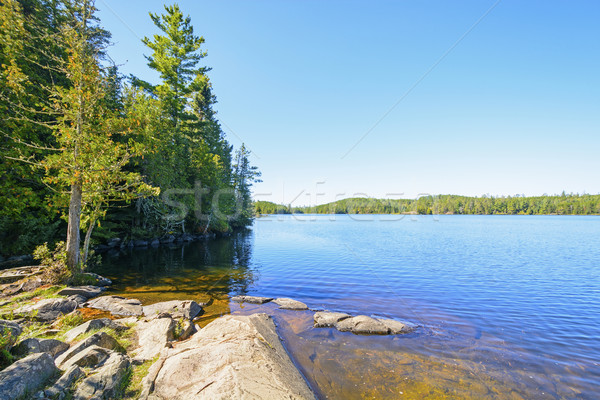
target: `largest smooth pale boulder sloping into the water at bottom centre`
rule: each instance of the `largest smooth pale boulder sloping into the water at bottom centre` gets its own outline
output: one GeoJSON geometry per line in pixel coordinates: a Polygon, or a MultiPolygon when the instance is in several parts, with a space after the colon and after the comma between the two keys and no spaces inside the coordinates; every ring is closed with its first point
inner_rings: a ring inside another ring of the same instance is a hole
{"type": "Polygon", "coordinates": [[[266,314],[227,315],[163,351],[141,398],[314,399],[266,314]]]}

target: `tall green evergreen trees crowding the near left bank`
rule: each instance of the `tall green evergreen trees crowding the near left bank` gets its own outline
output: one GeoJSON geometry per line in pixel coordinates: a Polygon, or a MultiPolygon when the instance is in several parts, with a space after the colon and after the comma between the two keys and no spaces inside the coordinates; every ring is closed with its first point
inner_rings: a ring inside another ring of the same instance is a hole
{"type": "Polygon", "coordinates": [[[91,0],[0,2],[0,257],[65,240],[227,232],[260,173],[225,138],[204,38],[177,5],[143,39],[157,83],[123,76],[91,0]]]}

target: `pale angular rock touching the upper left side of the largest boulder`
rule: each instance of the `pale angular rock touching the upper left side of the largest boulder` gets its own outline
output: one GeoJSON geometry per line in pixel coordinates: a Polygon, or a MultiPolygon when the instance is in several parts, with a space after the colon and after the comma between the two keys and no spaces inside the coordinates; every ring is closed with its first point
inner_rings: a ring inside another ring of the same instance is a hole
{"type": "Polygon", "coordinates": [[[148,322],[139,321],[135,326],[139,346],[135,352],[135,358],[138,360],[154,358],[168,342],[173,340],[176,324],[171,318],[157,318],[148,322]]]}

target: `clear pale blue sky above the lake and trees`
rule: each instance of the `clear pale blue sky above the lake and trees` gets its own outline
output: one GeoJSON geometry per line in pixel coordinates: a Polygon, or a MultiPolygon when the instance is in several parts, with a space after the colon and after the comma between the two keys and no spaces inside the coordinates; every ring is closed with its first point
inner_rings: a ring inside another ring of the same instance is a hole
{"type": "MultiPolygon", "coordinates": [[[[96,1],[123,73],[163,4],[96,1]]],[[[600,2],[178,4],[256,199],[600,193],[600,2]]]]}

